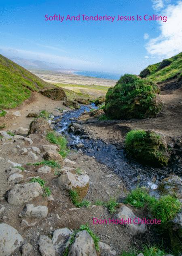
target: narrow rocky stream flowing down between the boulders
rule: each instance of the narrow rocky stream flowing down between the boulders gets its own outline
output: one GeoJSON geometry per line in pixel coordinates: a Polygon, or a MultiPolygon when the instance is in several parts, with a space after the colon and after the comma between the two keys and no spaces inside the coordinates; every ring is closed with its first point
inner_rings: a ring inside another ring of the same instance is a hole
{"type": "Polygon", "coordinates": [[[61,135],[66,135],[68,146],[72,149],[77,149],[76,144],[83,143],[85,147],[81,148],[81,150],[88,156],[94,156],[97,162],[105,164],[112,169],[113,173],[118,174],[123,179],[128,189],[133,189],[136,186],[145,186],[151,189],[157,188],[157,183],[167,177],[169,169],[143,166],[127,159],[124,150],[117,148],[113,144],[102,140],[82,139],[81,136],[68,132],[68,126],[72,122],[76,122],[76,118],[84,113],[84,111],[89,111],[90,109],[97,109],[97,107],[94,103],[91,105],[80,105],[80,109],[68,111],[63,113],[62,116],[56,116],[54,120],[56,121],[56,119],[61,117],[61,121],[55,124],[55,131],[61,135]]]}

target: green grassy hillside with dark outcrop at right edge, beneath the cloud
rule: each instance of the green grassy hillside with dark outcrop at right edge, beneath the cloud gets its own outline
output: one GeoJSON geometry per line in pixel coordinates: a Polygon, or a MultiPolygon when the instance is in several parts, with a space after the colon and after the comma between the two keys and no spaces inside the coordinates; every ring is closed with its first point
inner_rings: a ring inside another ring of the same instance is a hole
{"type": "Polygon", "coordinates": [[[169,59],[165,59],[162,62],[149,65],[142,70],[140,77],[150,78],[155,82],[163,82],[170,78],[177,78],[182,74],[182,53],[175,55],[169,59]]]}

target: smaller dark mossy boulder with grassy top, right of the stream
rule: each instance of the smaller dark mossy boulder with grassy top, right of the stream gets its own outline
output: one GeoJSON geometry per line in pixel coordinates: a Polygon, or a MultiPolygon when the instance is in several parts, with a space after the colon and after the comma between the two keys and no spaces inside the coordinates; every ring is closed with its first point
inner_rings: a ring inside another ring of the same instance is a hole
{"type": "Polygon", "coordinates": [[[162,133],[144,130],[131,130],[125,139],[127,154],[142,164],[154,167],[167,166],[169,154],[162,133]]]}

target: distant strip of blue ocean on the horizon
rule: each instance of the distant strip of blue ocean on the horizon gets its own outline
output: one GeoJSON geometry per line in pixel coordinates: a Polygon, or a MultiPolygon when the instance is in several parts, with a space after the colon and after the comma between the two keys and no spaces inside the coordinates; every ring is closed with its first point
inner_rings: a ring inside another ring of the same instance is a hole
{"type": "Polygon", "coordinates": [[[107,72],[97,72],[97,71],[74,71],[74,74],[81,75],[85,77],[97,77],[111,80],[119,80],[121,75],[107,73],[107,72]]]}

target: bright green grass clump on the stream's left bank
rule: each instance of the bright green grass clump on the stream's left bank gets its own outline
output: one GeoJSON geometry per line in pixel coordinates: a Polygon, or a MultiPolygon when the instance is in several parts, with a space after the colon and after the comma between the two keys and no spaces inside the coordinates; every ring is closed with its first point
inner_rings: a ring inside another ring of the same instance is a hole
{"type": "Polygon", "coordinates": [[[46,139],[53,143],[53,144],[57,144],[59,145],[59,154],[63,157],[63,158],[66,158],[66,156],[68,155],[69,153],[69,149],[67,148],[67,139],[63,136],[57,136],[55,134],[55,132],[48,132],[47,133],[47,136],[46,136],[46,139]]]}

